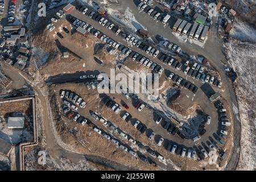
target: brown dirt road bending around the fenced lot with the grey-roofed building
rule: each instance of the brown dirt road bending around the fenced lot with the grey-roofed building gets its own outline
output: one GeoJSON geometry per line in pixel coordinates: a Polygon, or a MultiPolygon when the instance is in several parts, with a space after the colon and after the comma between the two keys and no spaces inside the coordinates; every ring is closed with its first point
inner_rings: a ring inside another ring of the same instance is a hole
{"type": "Polygon", "coordinates": [[[111,167],[111,168],[114,168],[117,170],[122,170],[122,171],[123,170],[137,170],[136,168],[131,168],[131,167],[125,166],[123,164],[119,164],[117,162],[114,162],[113,160],[109,160],[109,159],[103,158],[101,156],[76,153],[76,152],[65,150],[65,148],[62,148],[58,144],[58,142],[55,138],[55,135],[53,134],[53,129],[52,129],[53,121],[49,117],[48,109],[50,109],[50,107],[48,105],[48,101],[46,100],[46,98],[48,96],[44,96],[44,94],[42,93],[42,90],[40,89],[40,85],[32,84],[33,81],[30,76],[26,75],[26,73],[23,73],[21,71],[17,71],[17,69],[14,69],[13,67],[9,67],[5,64],[2,64],[2,69],[4,72],[7,70],[9,73],[11,73],[13,76],[15,76],[18,79],[20,79],[20,77],[22,77],[24,80],[29,82],[31,84],[32,88],[34,89],[34,91],[36,92],[36,94],[38,95],[37,98],[38,98],[38,100],[40,100],[40,102],[42,104],[42,108],[43,108],[43,113],[42,113],[43,125],[44,125],[44,129],[45,129],[46,143],[47,143],[46,151],[48,152],[49,155],[54,156],[54,158],[56,160],[59,160],[60,156],[65,156],[67,159],[70,159],[73,162],[79,162],[79,160],[86,158],[87,160],[89,160],[91,162],[102,164],[104,166],[111,167]]]}

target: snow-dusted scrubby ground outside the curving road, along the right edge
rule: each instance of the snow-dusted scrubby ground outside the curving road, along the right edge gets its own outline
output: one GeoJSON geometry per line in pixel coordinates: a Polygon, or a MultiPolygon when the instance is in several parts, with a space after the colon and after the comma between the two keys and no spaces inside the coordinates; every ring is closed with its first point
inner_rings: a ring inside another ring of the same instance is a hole
{"type": "MultiPolygon", "coordinates": [[[[249,35],[249,32],[245,34],[249,35]]],[[[238,169],[254,170],[256,168],[256,45],[230,39],[226,48],[230,64],[238,75],[235,83],[241,120],[241,154],[238,169]]]]}

